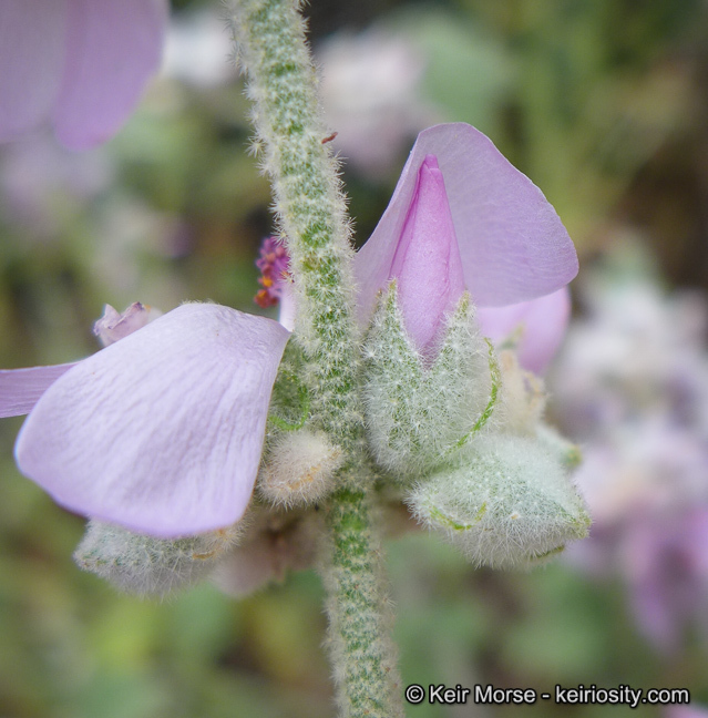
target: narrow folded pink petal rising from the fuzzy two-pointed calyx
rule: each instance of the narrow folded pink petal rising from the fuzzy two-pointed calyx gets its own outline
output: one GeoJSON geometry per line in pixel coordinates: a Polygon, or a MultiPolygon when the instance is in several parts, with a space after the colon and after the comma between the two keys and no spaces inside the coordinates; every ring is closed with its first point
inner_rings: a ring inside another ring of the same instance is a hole
{"type": "Polygon", "coordinates": [[[425,351],[464,293],[445,184],[433,155],[420,167],[390,277],[398,280],[406,329],[415,348],[425,351]]]}

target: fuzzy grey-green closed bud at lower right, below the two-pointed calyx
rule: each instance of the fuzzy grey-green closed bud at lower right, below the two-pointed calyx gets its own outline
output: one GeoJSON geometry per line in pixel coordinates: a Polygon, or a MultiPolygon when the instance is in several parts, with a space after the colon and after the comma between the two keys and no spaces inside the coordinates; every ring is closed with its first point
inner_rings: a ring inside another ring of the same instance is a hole
{"type": "Polygon", "coordinates": [[[537,441],[480,439],[456,468],[418,484],[415,517],[474,564],[532,566],[587,535],[589,516],[562,464],[537,441]]]}

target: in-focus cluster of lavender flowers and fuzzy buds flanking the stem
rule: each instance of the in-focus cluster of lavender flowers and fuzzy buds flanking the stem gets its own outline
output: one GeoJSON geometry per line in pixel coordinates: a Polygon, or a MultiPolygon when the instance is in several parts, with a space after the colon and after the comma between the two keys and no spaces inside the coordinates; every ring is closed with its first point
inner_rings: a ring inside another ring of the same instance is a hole
{"type": "MultiPolygon", "coordinates": [[[[258,266],[274,298],[285,249],[268,239],[258,266]]],[[[419,135],[355,258],[371,453],[474,563],[532,564],[586,532],[572,447],[543,424],[542,383],[513,350],[536,370],[547,361],[576,270],[553,207],[463,124],[419,135]]],[[[0,372],[0,410],[30,414],[21,471],[93,520],[81,565],[161,593],[234,542],[266,551],[274,522],[309,537],[346,455],[312,420],[288,329],[216,305],[154,318],[136,304],[106,308],[95,331],[107,346],[88,359],[0,372]]],[[[309,555],[304,541],[290,553],[309,555]]]]}

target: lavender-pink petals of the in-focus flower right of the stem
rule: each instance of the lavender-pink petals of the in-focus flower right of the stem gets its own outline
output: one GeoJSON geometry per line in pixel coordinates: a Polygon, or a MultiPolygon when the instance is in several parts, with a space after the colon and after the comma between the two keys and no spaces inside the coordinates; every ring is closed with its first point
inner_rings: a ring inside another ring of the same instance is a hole
{"type": "Polygon", "coordinates": [[[466,289],[493,338],[523,320],[543,330],[527,332],[521,356],[531,369],[543,368],[547,347],[560,341],[567,322],[563,288],[576,274],[573,243],[543,193],[463,123],[420,133],[355,260],[362,325],[396,278],[406,327],[425,351],[466,289]],[[522,304],[530,300],[540,304],[522,304]]]}

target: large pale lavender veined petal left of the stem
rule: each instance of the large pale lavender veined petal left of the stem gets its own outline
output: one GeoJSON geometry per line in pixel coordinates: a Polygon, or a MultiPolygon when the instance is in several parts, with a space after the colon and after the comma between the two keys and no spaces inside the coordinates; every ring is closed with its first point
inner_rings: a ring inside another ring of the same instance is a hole
{"type": "Polygon", "coordinates": [[[165,538],[238,521],[289,332],[183,305],[80,362],[24,422],[20,470],[62,505],[165,538]]]}

